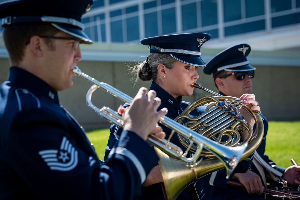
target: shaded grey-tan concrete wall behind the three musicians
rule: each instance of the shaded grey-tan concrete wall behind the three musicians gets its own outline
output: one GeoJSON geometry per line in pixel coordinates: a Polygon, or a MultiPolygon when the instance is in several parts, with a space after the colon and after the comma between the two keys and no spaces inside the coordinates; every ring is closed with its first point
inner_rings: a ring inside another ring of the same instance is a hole
{"type": "MultiPolygon", "coordinates": [[[[213,54],[211,55],[211,57],[213,54]]],[[[207,62],[208,60],[204,60],[207,62]]],[[[250,60],[251,63],[251,60],[250,60]]],[[[255,63],[255,62],[254,62],[255,63]]],[[[134,62],[105,62],[105,61],[80,61],[77,63],[82,72],[90,75],[98,81],[112,85],[118,90],[134,97],[140,87],[149,88],[150,83],[140,81],[132,87],[131,75],[127,65],[135,65],[134,62]]],[[[253,65],[253,64],[252,64],[253,65]]],[[[0,82],[7,80],[9,61],[0,58],[0,82]]],[[[259,66],[256,67],[253,79],[253,93],[259,101],[262,113],[268,120],[300,120],[300,108],[297,105],[300,99],[300,67],[293,66],[259,66]]],[[[202,69],[198,69],[200,78],[197,83],[209,90],[217,92],[210,75],[204,75],[202,69]]],[[[61,105],[85,128],[109,127],[105,119],[89,109],[85,103],[85,95],[92,84],[81,77],[73,77],[72,88],[59,92],[61,105]]],[[[190,97],[184,97],[185,101],[194,101],[200,96],[209,95],[202,90],[195,89],[190,97]]],[[[106,91],[98,89],[92,97],[92,102],[99,108],[107,106],[116,110],[123,102],[116,99],[106,91]]]]}

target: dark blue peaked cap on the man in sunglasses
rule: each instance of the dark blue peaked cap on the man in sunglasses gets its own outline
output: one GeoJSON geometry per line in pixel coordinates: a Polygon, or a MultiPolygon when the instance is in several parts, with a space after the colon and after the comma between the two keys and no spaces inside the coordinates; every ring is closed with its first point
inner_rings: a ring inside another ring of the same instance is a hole
{"type": "Polygon", "coordinates": [[[214,77],[223,70],[230,72],[255,70],[256,68],[251,66],[247,60],[250,51],[251,48],[248,44],[237,44],[229,47],[209,60],[203,68],[203,72],[214,77]]]}

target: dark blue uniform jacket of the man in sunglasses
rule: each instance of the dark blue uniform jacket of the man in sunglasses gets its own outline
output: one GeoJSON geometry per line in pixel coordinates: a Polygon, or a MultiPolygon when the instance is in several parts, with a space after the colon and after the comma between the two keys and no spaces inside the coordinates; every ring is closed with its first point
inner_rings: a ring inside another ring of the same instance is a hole
{"type": "MultiPolygon", "coordinates": [[[[226,96],[225,94],[219,92],[220,95],[226,96]]],[[[260,143],[259,147],[256,149],[258,154],[265,160],[269,165],[275,165],[275,163],[268,158],[268,155],[265,154],[265,138],[267,135],[268,131],[268,121],[263,116],[263,126],[264,126],[264,136],[262,138],[262,142],[260,143]]],[[[254,125],[254,130],[255,130],[255,125],[254,125]]],[[[284,168],[278,167],[278,166],[273,166],[275,169],[277,169],[280,172],[284,172],[284,168]]],[[[259,175],[259,172],[257,171],[256,167],[251,163],[250,170],[253,172],[256,172],[256,174],[259,175]]],[[[237,172],[237,171],[235,171],[237,172]]],[[[214,172],[215,173],[215,172],[214,172]]],[[[204,200],[219,200],[219,199],[230,199],[232,197],[237,197],[237,196],[242,196],[242,195],[247,195],[247,190],[244,188],[240,187],[234,187],[234,186],[229,186],[227,184],[226,178],[224,178],[223,174],[225,174],[225,170],[220,170],[217,173],[214,174],[213,178],[212,176],[205,176],[203,178],[204,180],[204,187],[203,187],[203,192],[202,192],[202,199],[204,200]]],[[[232,181],[238,181],[236,179],[232,179],[232,181]]],[[[268,179],[267,179],[268,182],[268,179]]],[[[241,197],[242,198],[242,197],[241,197]]],[[[254,198],[254,197],[253,197],[254,198]]]]}

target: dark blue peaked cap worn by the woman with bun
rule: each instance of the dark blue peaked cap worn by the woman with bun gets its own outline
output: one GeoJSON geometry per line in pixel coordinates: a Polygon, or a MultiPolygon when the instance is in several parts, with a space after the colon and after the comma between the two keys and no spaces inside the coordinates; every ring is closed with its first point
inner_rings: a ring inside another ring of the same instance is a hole
{"type": "Polygon", "coordinates": [[[148,45],[150,53],[170,54],[175,59],[195,66],[205,66],[200,58],[200,47],[210,39],[206,33],[184,33],[148,37],[141,40],[148,45]]]}

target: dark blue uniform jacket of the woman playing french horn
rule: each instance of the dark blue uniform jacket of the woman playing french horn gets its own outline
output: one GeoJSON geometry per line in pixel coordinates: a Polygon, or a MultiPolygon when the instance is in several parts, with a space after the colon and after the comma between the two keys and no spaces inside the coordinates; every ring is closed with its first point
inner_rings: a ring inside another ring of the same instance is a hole
{"type": "MultiPolygon", "coordinates": [[[[177,116],[179,116],[182,111],[190,104],[189,102],[182,101],[182,97],[179,98],[179,100],[175,99],[172,95],[167,93],[164,89],[162,89],[160,86],[158,86],[156,83],[152,82],[151,87],[149,90],[155,90],[157,93],[157,97],[159,97],[162,101],[161,106],[158,109],[167,107],[168,108],[168,114],[167,117],[171,119],[175,119],[177,116]]],[[[125,105],[125,106],[128,106],[125,105]]],[[[195,110],[193,110],[189,115],[192,117],[196,117],[201,113],[205,112],[205,106],[199,106],[195,110]]],[[[161,125],[163,128],[163,131],[166,133],[166,138],[170,136],[171,130],[170,128],[167,128],[164,125],[161,125]]],[[[106,159],[107,155],[109,154],[110,150],[113,148],[113,146],[118,141],[118,127],[116,125],[112,125],[110,137],[108,140],[108,144],[106,147],[106,155],[104,157],[104,160],[106,159]]],[[[179,146],[185,151],[184,146],[180,143],[180,141],[177,138],[177,135],[173,135],[171,142],[179,146]]],[[[251,155],[252,157],[252,155],[251,155]]],[[[105,161],[106,162],[106,161],[105,161]]],[[[251,163],[251,158],[248,161],[242,161],[236,168],[236,171],[245,172],[249,168],[251,163]],[[246,170],[245,170],[246,169],[246,170]]],[[[226,177],[226,174],[224,174],[226,177]]],[[[187,188],[185,188],[179,195],[177,199],[198,199],[198,195],[202,190],[203,182],[202,178],[198,179],[196,184],[190,184],[187,188]],[[196,188],[196,191],[195,191],[196,188]]],[[[149,187],[143,188],[142,195],[137,196],[136,199],[164,199],[161,184],[153,184],[149,187]]]]}

